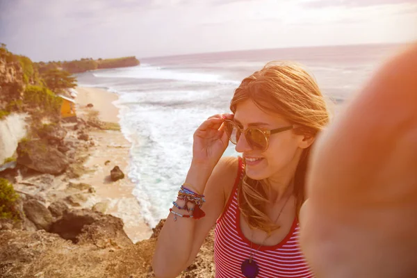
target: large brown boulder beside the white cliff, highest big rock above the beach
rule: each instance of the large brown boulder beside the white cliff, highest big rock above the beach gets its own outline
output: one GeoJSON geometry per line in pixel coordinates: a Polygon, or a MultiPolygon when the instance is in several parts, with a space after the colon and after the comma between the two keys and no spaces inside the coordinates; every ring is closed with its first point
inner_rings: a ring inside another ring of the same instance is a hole
{"type": "Polygon", "coordinates": [[[62,152],[42,140],[19,142],[17,155],[18,164],[47,174],[60,174],[69,165],[62,152]]]}

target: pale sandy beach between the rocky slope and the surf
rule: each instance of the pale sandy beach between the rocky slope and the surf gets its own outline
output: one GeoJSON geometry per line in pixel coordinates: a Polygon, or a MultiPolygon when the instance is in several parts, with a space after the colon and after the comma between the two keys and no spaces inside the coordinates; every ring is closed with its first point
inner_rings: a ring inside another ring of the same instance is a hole
{"type": "MultiPolygon", "coordinates": [[[[119,122],[119,109],[113,104],[118,99],[116,94],[99,88],[76,88],[76,91],[76,111],[79,117],[93,110],[99,112],[101,121],[119,122]],[[87,104],[93,107],[88,108],[87,104]]],[[[95,141],[95,146],[90,147],[90,157],[84,166],[94,171],[74,179],[74,182],[88,183],[95,188],[95,195],[84,206],[91,208],[98,202],[104,202],[105,213],[123,220],[124,230],[133,243],[149,238],[152,229],[140,215],[140,204],[132,194],[135,184],[128,177],[131,144],[121,131],[90,131],[89,135],[95,141]],[[120,167],[125,177],[113,182],[110,171],[115,165],[120,167]]]]}

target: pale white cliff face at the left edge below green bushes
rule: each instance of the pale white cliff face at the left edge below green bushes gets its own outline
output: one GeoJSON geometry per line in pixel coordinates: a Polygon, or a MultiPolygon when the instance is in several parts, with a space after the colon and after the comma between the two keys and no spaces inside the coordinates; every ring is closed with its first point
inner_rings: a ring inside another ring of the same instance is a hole
{"type": "Polygon", "coordinates": [[[13,156],[19,140],[26,136],[26,114],[13,113],[0,120],[0,165],[13,156]]]}

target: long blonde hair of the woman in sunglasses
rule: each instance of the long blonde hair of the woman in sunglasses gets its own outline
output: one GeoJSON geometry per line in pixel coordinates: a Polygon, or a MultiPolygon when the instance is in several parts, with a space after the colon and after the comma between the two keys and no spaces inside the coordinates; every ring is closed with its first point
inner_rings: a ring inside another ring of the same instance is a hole
{"type": "MultiPolygon", "coordinates": [[[[300,65],[295,63],[271,62],[262,70],[243,79],[234,92],[230,109],[236,113],[236,106],[247,99],[266,112],[277,113],[291,124],[297,124],[294,132],[316,136],[329,122],[325,98],[316,81],[300,65]]],[[[295,211],[298,215],[304,202],[304,181],[311,147],[304,149],[295,171],[295,211]]],[[[265,181],[256,181],[246,175],[238,190],[240,213],[252,228],[270,232],[277,229],[268,215],[269,190],[265,181]]]]}

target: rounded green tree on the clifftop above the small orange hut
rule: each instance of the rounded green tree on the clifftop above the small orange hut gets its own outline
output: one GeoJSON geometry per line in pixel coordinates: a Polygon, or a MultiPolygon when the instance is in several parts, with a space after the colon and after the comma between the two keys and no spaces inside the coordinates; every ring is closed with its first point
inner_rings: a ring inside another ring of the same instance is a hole
{"type": "Polygon", "coordinates": [[[50,69],[41,76],[47,87],[54,92],[76,87],[76,78],[65,70],[50,69]]]}

